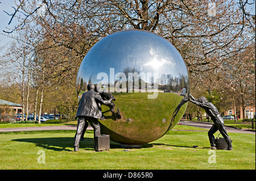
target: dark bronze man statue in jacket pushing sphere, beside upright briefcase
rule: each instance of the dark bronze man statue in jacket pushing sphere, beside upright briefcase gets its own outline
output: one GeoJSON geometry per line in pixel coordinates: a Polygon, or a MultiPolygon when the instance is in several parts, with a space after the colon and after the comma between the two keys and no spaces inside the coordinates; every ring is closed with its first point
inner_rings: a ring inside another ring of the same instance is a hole
{"type": "Polygon", "coordinates": [[[98,119],[101,119],[102,112],[101,110],[99,110],[97,103],[109,105],[111,104],[112,100],[103,100],[100,93],[94,91],[93,84],[89,84],[87,86],[87,89],[88,91],[82,94],[82,97],[79,101],[79,107],[77,108],[76,118],[78,117],[78,125],[75,134],[74,151],[79,151],[80,138],[82,135],[82,131],[84,130],[86,121],[88,121],[88,123],[94,129],[94,141],[96,136],[100,136],[101,130],[98,119]]]}

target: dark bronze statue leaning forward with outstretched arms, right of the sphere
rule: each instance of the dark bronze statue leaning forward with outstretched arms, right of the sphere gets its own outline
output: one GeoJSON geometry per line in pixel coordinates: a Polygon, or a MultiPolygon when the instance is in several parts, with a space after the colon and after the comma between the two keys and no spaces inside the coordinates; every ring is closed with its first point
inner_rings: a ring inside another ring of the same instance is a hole
{"type": "Polygon", "coordinates": [[[210,128],[208,132],[209,140],[210,140],[210,146],[212,149],[216,149],[215,145],[215,138],[213,134],[216,131],[220,131],[221,135],[226,140],[226,143],[228,144],[227,150],[233,150],[232,148],[232,140],[230,140],[228,133],[226,132],[225,126],[224,126],[224,120],[222,119],[220,113],[218,112],[217,108],[210,102],[207,101],[207,98],[204,96],[201,96],[198,100],[193,98],[192,95],[190,95],[189,101],[196,104],[197,106],[200,106],[201,108],[204,108],[205,112],[210,116],[210,119],[213,121],[213,126],[210,128]]]}

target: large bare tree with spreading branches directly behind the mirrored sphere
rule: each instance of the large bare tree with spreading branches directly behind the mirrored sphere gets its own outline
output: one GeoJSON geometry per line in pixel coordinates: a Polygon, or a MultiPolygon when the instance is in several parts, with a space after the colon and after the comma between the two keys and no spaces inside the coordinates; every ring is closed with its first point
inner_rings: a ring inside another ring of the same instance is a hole
{"type": "Polygon", "coordinates": [[[112,32],[130,28],[156,32],[174,44],[198,79],[196,75],[214,74],[228,65],[230,57],[243,49],[238,42],[247,23],[243,11],[234,1],[212,3],[213,7],[207,0],[22,1],[15,12],[24,15],[19,26],[30,18],[44,38],[52,40],[45,48],[65,47],[80,59],[112,32]]]}

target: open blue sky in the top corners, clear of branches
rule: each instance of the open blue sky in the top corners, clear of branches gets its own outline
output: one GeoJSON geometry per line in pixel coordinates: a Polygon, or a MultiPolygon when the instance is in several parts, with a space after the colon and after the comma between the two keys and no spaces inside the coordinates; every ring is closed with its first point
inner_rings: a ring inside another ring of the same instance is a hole
{"type": "MultiPolygon", "coordinates": [[[[18,0],[16,0],[18,1],[18,0]]],[[[238,1],[238,0],[237,0],[238,1]]],[[[3,12],[4,10],[6,12],[9,12],[10,14],[14,12],[14,9],[12,8],[12,6],[15,7],[15,0],[0,0],[0,47],[5,46],[6,44],[10,43],[10,41],[12,41],[12,39],[10,39],[7,36],[2,35],[3,30],[6,30],[7,28],[11,28],[13,29],[14,26],[16,25],[16,19],[13,19],[13,21],[11,22],[10,25],[8,25],[8,23],[10,22],[11,16],[7,15],[5,12],[3,12]]],[[[254,0],[249,0],[249,2],[254,2],[254,0]]],[[[248,8],[247,10],[251,10],[251,14],[255,14],[255,4],[254,6],[248,8]],[[251,10],[252,8],[252,10],[251,10]]],[[[4,33],[6,34],[6,33],[4,33]]],[[[13,33],[14,35],[14,33],[13,33]]]]}

